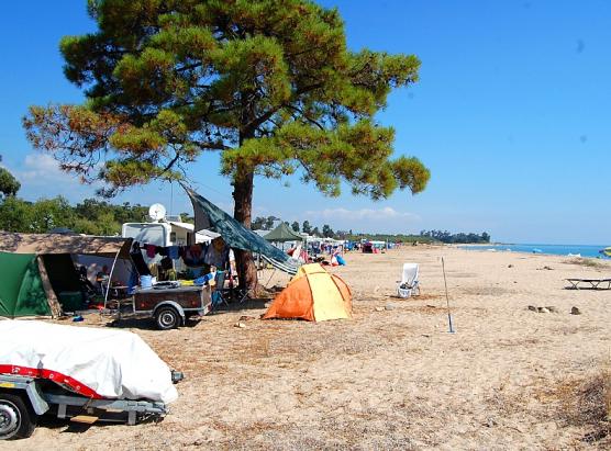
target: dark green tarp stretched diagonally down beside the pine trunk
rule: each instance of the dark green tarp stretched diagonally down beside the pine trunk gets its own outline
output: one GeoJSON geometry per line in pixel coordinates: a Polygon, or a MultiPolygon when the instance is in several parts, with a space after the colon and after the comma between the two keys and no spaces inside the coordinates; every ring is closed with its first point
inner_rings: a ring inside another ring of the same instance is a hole
{"type": "Polygon", "coordinates": [[[195,232],[205,229],[215,232],[223,237],[229,247],[260,253],[280,270],[291,274],[297,272],[297,266],[289,261],[290,256],[271,246],[249,228],[244,227],[208,199],[196,193],[185,184],[182,184],[182,188],[187,191],[193,205],[196,216],[195,232]]]}

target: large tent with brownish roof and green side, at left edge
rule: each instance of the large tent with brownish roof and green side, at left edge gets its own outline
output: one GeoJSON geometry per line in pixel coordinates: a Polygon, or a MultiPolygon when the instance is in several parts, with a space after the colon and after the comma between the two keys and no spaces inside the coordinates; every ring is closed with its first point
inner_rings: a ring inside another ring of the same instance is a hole
{"type": "Polygon", "coordinates": [[[70,255],[129,258],[131,238],[0,232],[0,317],[54,316],[80,289],[70,255]]]}

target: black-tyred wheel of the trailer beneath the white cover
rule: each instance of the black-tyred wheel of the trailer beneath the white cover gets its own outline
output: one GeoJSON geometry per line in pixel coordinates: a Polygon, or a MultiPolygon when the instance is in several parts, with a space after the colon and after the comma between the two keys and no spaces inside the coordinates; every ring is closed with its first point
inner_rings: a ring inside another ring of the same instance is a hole
{"type": "Polygon", "coordinates": [[[34,409],[21,396],[0,393],[0,440],[30,437],[37,418],[34,409]]]}

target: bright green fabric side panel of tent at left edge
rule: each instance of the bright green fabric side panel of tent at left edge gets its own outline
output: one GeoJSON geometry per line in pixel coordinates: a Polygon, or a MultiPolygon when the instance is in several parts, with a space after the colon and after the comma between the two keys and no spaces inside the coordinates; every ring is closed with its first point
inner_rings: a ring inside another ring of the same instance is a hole
{"type": "Polygon", "coordinates": [[[35,253],[0,252],[0,316],[52,314],[35,253]]]}

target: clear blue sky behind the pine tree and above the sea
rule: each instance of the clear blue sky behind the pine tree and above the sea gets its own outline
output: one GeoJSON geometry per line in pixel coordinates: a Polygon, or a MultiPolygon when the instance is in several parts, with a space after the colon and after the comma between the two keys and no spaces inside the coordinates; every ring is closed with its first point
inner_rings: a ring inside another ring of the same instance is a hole
{"type": "MultiPolygon", "coordinates": [[[[348,45],[415,54],[421,80],[390,97],[378,120],[397,131],[397,154],[419,157],[429,188],[371,202],[349,190],[325,198],[297,178],[255,181],[255,214],[354,230],[487,230],[514,243],[611,240],[611,3],[547,1],[322,1],[336,5],[348,45]]],[[[85,0],[8,2],[0,26],[0,155],[34,200],[77,202],[93,190],[59,172],[26,142],[31,104],[80,102],[57,44],[93,30],[85,0]]],[[[199,191],[231,208],[218,155],[191,169],[199,191]]],[[[189,208],[177,187],[153,184],[118,202],[189,208]]]]}

